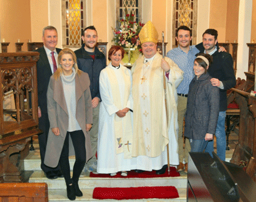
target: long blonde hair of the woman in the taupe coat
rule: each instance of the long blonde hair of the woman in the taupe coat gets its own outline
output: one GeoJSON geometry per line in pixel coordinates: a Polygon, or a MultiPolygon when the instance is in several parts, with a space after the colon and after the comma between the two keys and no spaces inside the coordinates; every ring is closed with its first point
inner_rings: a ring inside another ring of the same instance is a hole
{"type": "Polygon", "coordinates": [[[61,50],[61,52],[59,52],[58,54],[58,64],[57,64],[57,67],[58,69],[56,70],[56,72],[54,73],[54,79],[55,80],[58,80],[59,77],[61,76],[61,73],[62,73],[62,66],[61,66],[61,58],[62,58],[62,55],[65,55],[65,54],[70,54],[72,55],[72,58],[74,60],[74,66],[73,68],[75,68],[75,73],[78,73],[78,76],[81,75],[81,70],[78,69],[78,66],[77,66],[77,56],[75,56],[75,53],[73,50],[69,49],[69,48],[64,48],[61,50]]]}

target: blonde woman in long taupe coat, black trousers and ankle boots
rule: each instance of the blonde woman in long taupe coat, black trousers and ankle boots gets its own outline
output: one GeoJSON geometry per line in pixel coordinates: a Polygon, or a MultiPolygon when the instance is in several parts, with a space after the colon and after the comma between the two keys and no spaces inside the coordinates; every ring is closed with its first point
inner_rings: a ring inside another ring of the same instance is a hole
{"type": "Polygon", "coordinates": [[[92,101],[89,85],[88,74],[78,69],[75,53],[68,48],[61,50],[58,54],[58,69],[51,76],[47,91],[51,130],[44,163],[56,167],[59,162],[69,200],[83,195],[78,180],[85,162],[92,157],[89,137],[92,101]],[[74,151],[75,164],[71,179],[68,156],[74,155],[74,151]]]}

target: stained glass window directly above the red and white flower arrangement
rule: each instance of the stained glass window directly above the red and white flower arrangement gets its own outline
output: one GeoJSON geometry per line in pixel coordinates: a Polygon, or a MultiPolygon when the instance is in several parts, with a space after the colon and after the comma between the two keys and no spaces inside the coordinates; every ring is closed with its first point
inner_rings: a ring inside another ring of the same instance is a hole
{"type": "Polygon", "coordinates": [[[141,1],[142,0],[117,0],[117,14],[119,20],[125,17],[125,8],[128,14],[134,14],[136,22],[141,21],[141,1]]]}

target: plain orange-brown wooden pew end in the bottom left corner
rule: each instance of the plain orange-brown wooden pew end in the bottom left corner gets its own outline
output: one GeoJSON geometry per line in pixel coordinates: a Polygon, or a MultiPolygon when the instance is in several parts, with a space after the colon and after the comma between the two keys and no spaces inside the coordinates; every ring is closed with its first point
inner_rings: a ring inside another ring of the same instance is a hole
{"type": "Polygon", "coordinates": [[[47,202],[46,183],[1,183],[0,201],[4,202],[47,202]]]}

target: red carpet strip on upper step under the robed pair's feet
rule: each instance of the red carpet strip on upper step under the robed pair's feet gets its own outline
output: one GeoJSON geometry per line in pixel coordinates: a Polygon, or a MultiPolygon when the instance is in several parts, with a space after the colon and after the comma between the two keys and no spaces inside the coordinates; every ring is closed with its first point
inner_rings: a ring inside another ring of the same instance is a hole
{"type": "Polygon", "coordinates": [[[178,177],[180,176],[177,173],[175,167],[169,168],[170,172],[168,174],[168,170],[166,169],[164,174],[155,174],[155,170],[153,171],[145,171],[143,173],[136,173],[135,171],[131,170],[128,171],[128,176],[123,177],[121,176],[121,172],[118,172],[116,176],[110,176],[109,174],[94,174],[90,173],[90,177],[111,177],[111,178],[153,178],[153,177],[178,177]]]}

